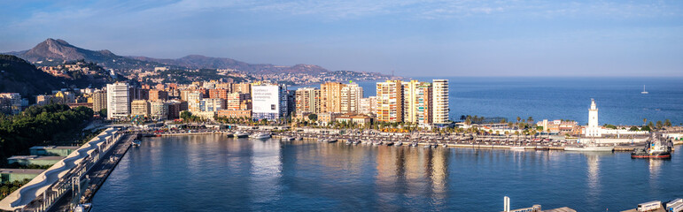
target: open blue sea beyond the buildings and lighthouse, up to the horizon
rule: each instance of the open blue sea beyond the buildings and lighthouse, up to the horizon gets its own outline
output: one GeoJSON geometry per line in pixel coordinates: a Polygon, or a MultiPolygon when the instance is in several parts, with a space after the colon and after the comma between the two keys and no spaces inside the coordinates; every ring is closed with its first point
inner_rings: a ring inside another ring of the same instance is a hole
{"type": "MultiPolygon", "coordinates": [[[[600,123],[642,125],[670,119],[683,125],[683,78],[418,78],[449,79],[451,119],[462,115],[588,122],[591,98],[600,123]],[[649,94],[641,95],[646,87],[649,94]]],[[[365,96],[375,95],[376,82],[359,82],[365,96]]],[[[318,86],[319,87],[319,86],[318,86]]],[[[291,87],[295,89],[296,87],[291,87]]]]}

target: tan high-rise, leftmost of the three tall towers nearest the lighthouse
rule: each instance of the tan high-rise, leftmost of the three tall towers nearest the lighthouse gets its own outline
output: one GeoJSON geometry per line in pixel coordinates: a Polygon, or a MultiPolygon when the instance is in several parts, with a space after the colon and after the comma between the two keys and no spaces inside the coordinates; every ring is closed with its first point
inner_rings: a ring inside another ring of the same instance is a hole
{"type": "Polygon", "coordinates": [[[380,122],[403,122],[403,89],[400,80],[377,82],[376,119],[380,122]]]}

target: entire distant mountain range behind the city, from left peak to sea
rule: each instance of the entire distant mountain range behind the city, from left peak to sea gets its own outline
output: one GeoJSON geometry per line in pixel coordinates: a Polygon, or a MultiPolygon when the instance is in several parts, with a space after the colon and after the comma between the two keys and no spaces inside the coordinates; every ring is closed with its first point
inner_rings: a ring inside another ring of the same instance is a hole
{"type": "MultiPolygon", "coordinates": [[[[205,57],[190,55],[177,59],[159,59],[152,57],[122,57],[109,50],[89,50],[76,47],[64,40],[47,39],[38,43],[33,49],[13,51],[6,54],[21,57],[35,65],[58,65],[66,61],[84,60],[85,62],[97,63],[106,69],[113,69],[127,76],[134,76],[136,69],[151,71],[154,67],[168,66],[172,70],[187,69],[228,69],[230,71],[244,72],[247,74],[268,74],[268,79],[291,80],[290,74],[296,74],[294,78],[306,79],[310,82],[336,79],[388,79],[389,76],[374,72],[330,72],[321,66],[314,64],[296,64],[292,66],[276,64],[249,64],[223,57],[205,57]],[[343,74],[343,75],[339,75],[343,74]],[[307,77],[303,77],[307,76],[307,77]],[[355,76],[361,76],[356,78],[355,76]]],[[[296,79],[295,79],[296,80],[296,79]]],[[[308,83],[300,81],[299,83],[308,83]]]]}

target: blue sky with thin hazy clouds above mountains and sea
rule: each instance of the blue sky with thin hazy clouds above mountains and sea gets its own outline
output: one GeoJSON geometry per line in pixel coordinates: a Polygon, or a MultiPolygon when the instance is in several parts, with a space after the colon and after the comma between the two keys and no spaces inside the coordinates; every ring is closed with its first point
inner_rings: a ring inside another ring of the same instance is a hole
{"type": "Polygon", "coordinates": [[[9,1],[0,52],[60,38],[404,76],[683,76],[683,1],[9,1]]]}

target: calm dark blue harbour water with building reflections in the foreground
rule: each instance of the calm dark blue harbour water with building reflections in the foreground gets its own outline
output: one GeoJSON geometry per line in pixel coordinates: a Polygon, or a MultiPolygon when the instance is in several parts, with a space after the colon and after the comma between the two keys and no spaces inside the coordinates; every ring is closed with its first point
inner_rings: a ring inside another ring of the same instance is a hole
{"type": "Polygon", "coordinates": [[[131,148],[93,211],[620,211],[683,197],[683,154],[634,160],[471,148],[151,138],[131,148]]]}

